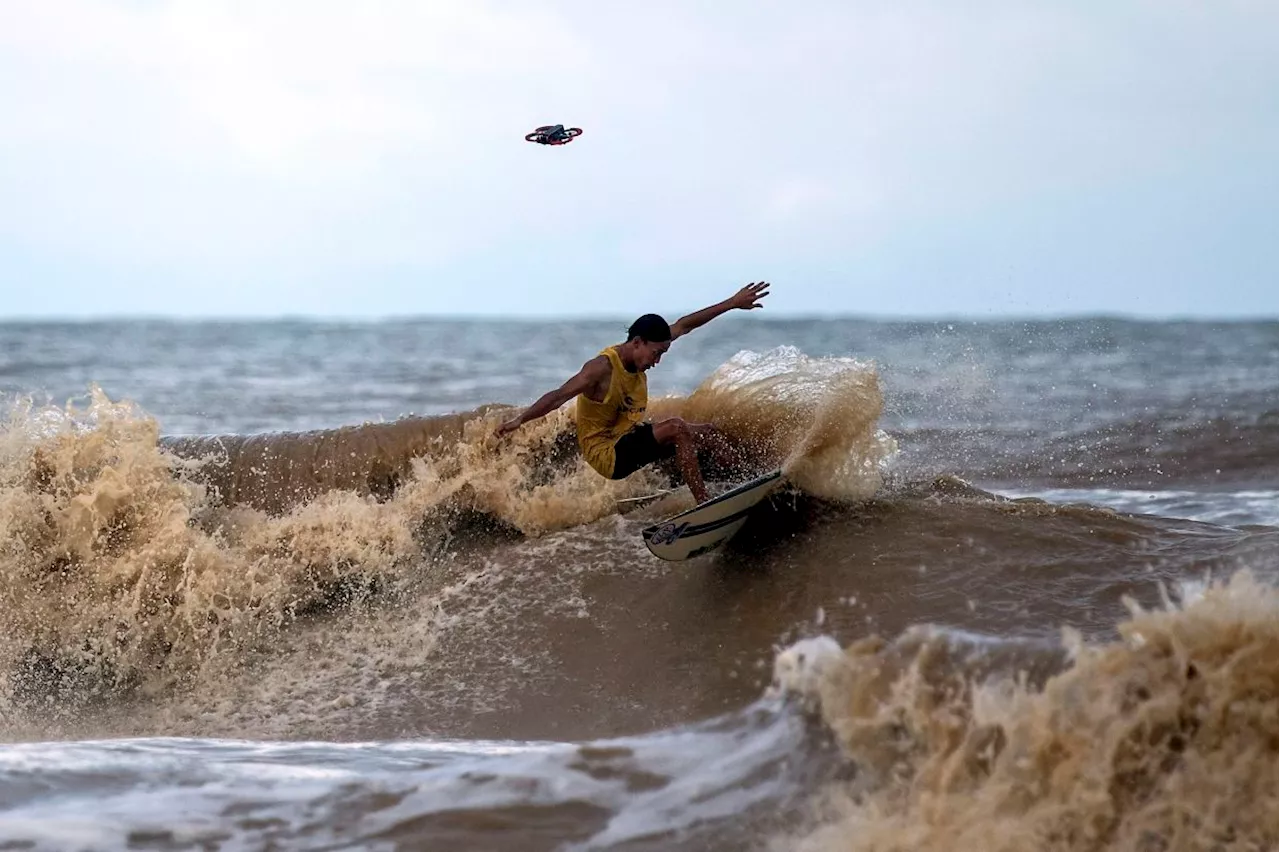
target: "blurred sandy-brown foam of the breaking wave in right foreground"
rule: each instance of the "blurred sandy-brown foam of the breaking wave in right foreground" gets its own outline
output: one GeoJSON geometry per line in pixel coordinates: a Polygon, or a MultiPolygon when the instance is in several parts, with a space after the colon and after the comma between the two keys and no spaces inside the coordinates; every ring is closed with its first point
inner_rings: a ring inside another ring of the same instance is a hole
{"type": "Polygon", "coordinates": [[[940,667],[945,642],[850,645],[801,687],[858,780],[778,848],[1275,847],[1280,588],[1242,571],[1119,631],[1042,684],[940,667]]]}

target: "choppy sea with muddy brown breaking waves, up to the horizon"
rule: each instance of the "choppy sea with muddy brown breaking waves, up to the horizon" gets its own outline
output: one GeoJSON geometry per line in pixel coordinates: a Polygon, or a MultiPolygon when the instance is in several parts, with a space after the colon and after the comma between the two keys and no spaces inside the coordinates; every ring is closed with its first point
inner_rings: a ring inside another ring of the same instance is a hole
{"type": "Polygon", "coordinates": [[[627,321],[0,324],[0,848],[1280,848],[1280,319],[627,321]]]}

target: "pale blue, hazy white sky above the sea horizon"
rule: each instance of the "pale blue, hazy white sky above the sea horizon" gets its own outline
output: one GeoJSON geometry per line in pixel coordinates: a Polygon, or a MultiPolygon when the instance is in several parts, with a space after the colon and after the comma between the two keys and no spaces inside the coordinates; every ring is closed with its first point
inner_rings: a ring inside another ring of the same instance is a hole
{"type": "Polygon", "coordinates": [[[0,0],[0,317],[1280,316],[1274,0],[0,0]]]}

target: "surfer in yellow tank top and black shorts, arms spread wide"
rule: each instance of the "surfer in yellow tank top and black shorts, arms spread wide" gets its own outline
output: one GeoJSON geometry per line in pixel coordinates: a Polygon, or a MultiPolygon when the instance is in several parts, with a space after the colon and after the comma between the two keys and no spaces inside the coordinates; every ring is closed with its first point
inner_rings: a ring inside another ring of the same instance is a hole
{"type": "Polygon", "coordinates": [[[498,426],[497,435],[509,435],[576,397],[577,446],[595,472],[605,478],[621,480],[675,454],[694,499],[705,503],[708,494],[698,464],[698,450],[713,453],[727,463],[739,461],[739,453],[710,423],[689,423],[680,417],[657,423],[645,421],[649,404],[645,372],[662,361],[677,338],[735,308],[751,311],[764,307],[760,299],[768,294],[767,281],[748,284],[723,302],[680,317],[675,325],[667,325],[657,313],[645,313],[631,324],[626,343],[602,349],[563,385],[543,394],[532,406],[498,426]]]}

